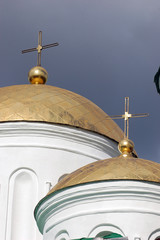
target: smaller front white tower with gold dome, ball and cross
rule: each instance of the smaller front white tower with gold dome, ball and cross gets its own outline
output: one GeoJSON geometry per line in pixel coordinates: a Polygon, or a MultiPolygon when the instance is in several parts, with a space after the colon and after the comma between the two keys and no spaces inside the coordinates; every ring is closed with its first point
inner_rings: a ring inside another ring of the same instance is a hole
{"type": "Polygon", "coordinates": [[[128,110],[120,155],[68,174],[36,206],[44,240],[160,239],[160,164],[133,154],[128,119],[146,114],[128,110]]]}

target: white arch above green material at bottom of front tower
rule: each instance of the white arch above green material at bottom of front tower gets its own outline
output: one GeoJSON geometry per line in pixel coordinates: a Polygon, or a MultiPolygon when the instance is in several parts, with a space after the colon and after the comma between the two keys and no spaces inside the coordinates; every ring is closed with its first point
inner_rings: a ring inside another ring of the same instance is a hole
{"type": "Polygon", "coordinates": [[[88,237],[89,238],[100,237],[100,236],[102,236],[102,234],[105,234],[107,232],[108,233],[109,232],[117,233],[117,234],[120,234],[122,236],[125,236],[123,231],[119,227],[117,227],[113,224],[99,224],[90,231],[88,237]]]}

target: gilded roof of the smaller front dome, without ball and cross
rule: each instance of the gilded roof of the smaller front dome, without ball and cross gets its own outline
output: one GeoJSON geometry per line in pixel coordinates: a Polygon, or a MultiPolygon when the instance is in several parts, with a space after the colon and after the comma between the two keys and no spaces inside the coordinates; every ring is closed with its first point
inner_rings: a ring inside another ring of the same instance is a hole
{"type": "Polygon", "coordinates": [[[67,175],[48,193],[82,183],[105,180],[137,180],[160,183],[160,164],[133,157],[110,158],[88,164],[67,175]]]}

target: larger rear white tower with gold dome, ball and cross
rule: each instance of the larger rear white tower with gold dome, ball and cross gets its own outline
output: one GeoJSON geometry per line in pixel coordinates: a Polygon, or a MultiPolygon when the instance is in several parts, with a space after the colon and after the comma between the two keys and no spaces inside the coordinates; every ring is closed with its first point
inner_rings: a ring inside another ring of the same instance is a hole
{"type": "Polygon", "coordinates": [[[31,84],[0,88],[1,240],[42,239],[33,216],[38,201],[76,169],[118,156],[123,138],[93,102],[45,84],[40,56],[51,45],[42,46],[40,33],[38,47],[27,50],[38,51],[31,84]]]}

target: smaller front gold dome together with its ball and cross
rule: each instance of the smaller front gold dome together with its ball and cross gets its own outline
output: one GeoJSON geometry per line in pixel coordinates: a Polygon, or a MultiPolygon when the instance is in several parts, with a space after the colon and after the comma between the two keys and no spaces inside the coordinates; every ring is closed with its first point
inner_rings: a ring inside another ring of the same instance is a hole
{"type": "Polygon", "coordinates": [[[67,187],[99,181],[134,180],[160,183],[160,164],[136,158],[133,154],[134,143],[128,139],[128,120],[132,116],[144,117],[148,114],[129,114],[129,98],[125,98],[125,114],[114,116],[124,118],[125,123],[124,138],[118,144],[120,156],[90,163],[68,174],[48,194],[67,187]]]}

